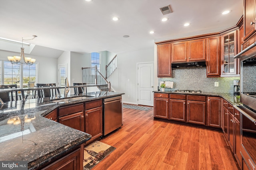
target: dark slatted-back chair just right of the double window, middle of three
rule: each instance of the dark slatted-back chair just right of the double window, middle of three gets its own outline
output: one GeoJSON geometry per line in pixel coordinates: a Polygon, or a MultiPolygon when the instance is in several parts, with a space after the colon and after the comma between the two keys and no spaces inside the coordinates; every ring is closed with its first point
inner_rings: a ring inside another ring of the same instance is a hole
{"type": "MultiPolygon", "coordinates": [[[[56,83],[41,84],[37,83],[37,87],[56,87],[56,83]]],[[[58,88],[51,89],[40,89],[38,90],[38,98],[53,97],[54,95],[60,94],[58,88]]]]}

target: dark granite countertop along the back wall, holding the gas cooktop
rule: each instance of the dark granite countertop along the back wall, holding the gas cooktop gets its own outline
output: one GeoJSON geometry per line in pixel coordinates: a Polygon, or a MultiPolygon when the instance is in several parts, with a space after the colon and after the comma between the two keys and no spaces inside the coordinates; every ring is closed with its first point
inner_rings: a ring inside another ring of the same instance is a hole
{"type": "Polygon", "coordinates": [[[232,105],[235,105],[235,106],[239,106],[240,102],[234,102],[234,101],[231,101],[229,97],[231,96],[236,96],[232,93],[212,93],[212,92],[202,92],[202,93],[182,93],[182,92],[161,92],[161,91],[153,91],[154,93],[166,93],[166,94],[187,94],[187,95],[201,95],[201,96],[218,96],[218,97],[222,97],[224,98],[225,100],[227,100],[228,102],[230,102],[232,105]]]}

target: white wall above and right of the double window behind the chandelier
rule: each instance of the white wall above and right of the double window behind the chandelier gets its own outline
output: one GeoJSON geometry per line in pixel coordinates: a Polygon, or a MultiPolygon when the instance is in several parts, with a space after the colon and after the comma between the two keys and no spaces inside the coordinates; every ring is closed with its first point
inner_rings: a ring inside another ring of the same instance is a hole
{"type": "MultiPolygon", "coordinates": [[[[7,56],[17,56],[17,55],[20,56],[20,53],[0,50],[0,59],[6,60],[6,61],[8,61],[7,56]]],[[[57,76],[58,76],[57,59],[50,58],[50,57],[34,56],[29,54],[25,54],[25,57],[34,58],[36,59],[36,63],[38,63],[38,82],[37,83],[56,83],[57,84],[57,76]]]]}

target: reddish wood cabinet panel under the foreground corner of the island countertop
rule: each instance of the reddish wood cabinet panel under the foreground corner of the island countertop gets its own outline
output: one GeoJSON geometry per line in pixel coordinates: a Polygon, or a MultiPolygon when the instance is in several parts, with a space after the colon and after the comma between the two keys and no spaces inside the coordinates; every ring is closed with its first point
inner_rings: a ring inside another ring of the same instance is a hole
{"type": "Polygon", "coordinates": [[[41,170],[81,170],[84,159],[83,146],[84,145],[81,145],[79,149],[63,156],[41,170]]]}

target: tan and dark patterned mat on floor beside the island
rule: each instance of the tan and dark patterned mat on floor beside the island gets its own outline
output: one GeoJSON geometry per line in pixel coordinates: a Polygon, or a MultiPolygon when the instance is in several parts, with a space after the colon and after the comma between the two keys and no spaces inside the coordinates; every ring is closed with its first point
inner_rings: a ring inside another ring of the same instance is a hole
{"type": "Polygon", "coordinates": [[[100,141],[95,141],[94,143],[88,145],[84,148],[83,170],[91,170],[96,164],[98,164],[115,149],[115,147],[100,141]]]}

